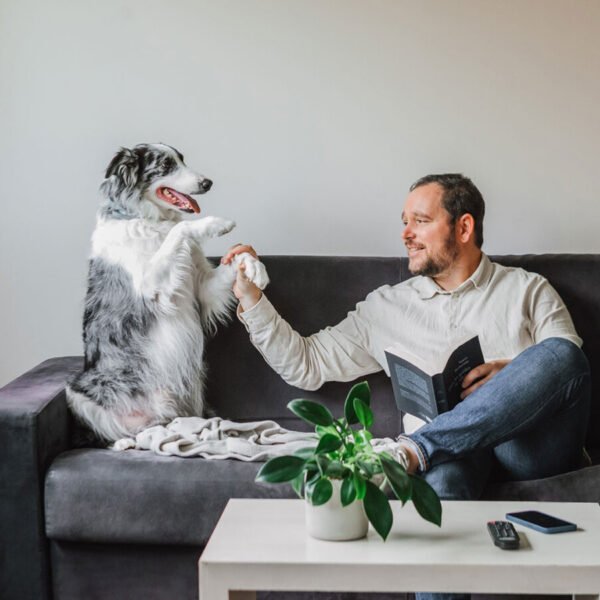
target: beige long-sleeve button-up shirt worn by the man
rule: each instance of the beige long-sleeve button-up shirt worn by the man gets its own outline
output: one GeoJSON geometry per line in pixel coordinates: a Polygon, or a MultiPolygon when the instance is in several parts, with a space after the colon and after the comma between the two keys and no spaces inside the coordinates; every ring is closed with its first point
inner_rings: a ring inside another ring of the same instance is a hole
{"type": "MultiPolygon", "coordinates": [[[[512,359],[549,337],[582,343],[544,277],[493,263],[485,254],[455,290],[445,291],[423,276],[384,285],[343,321],[308,337],[294,331],[265,295],[238,316],[267,363],[289,384],[307,390],[381,369],[389,376],[384,350],[392,345],[426,358],[477,334],[488,362],[512,359]]],[[[421,423],[405,417],[405,430],[421,423]]]]}

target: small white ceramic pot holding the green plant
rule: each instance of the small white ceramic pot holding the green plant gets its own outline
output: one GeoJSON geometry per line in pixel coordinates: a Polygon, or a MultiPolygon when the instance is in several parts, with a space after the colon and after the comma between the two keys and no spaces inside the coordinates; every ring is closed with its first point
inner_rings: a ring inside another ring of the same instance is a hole
{"type": "Polygon", "coordinates": [[[362,500],[355,500],[348,506],[342,506],[339,479],[331,481],[333,494],[321,506],[313,506],[306,501],[306,530],[308,535],[319,540],[341,542],[365,537],[369,521],[362,500]]]}

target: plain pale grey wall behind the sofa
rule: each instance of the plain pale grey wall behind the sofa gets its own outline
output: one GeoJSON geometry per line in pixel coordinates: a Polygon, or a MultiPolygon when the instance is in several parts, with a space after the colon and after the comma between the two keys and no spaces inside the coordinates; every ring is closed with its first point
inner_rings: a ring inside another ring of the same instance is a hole
{"type": "Polygon", "coordinates": [[[164,141],[262,253],[397,255],[425,173],[489,253],[598,252],[596,0],[1,0],[0,384],[81,352],[97,187],[164,141]]]}

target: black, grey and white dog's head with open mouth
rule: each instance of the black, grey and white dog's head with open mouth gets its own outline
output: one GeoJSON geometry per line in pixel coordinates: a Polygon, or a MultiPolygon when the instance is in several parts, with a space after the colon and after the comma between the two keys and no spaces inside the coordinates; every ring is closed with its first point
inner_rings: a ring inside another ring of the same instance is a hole
{"type": "Polygon", "coordinates": [[[166,144],[121,148],[106,169],[101,213],[115,219],[179,221],[199,213],[190,194],[205,194],[212,181],[189,169],[180,152],[166,144]]]}

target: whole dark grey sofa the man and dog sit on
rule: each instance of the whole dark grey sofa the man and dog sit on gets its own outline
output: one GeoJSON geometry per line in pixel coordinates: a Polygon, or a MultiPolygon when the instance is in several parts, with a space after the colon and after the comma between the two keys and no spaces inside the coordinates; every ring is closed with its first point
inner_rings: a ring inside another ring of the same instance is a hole
{"type": "MultiPolygon", "coordinates": [[[[600,255],[494,260],[546,276],[571,311],[592,367],[587,445],[596,466],[544,480],[494,483],[486,498],[598,502],[600,255]]],[[[406,259],[397,258],[273,256],[264,262],[273,281],[269,297],[303,334],[341,320],[378,286],[410,276],[406,259]]],[[[286,385],[236,319],[219,330],[206,354],[208,401],[218,415],[234,420],[270,418],[306,429],[286,410],[287,402],[324,400],[339,413],[350,385],[331,383],[310,393],[286,385]]],[[[81,436],[64,387],[81,365],[80,357],[53,358],[0,390],[0,598],[197,598],[197,561],[228,499],[293,492],[254,483],[260,464],[77,447],[73,440],[81,436]]],[[[389,380],[382,373],[368,380],[374,432],[393,436],[401,420],[389,380]]]]}

